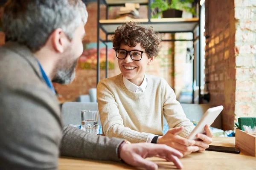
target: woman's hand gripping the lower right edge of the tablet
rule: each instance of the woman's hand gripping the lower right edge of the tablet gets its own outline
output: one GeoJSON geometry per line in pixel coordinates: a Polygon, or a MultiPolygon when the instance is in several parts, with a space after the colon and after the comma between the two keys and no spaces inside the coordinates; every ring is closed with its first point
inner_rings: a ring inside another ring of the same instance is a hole
{"type": "Polygon", "coordinates": [[[199,151],[204,151],[212,143],[212,131],[208,125],[204,127],[205,134],[198,133],[196,137],[200,140],[195,141],[195,146],[199,147],[199,151]]]}

